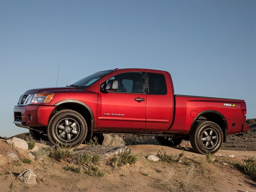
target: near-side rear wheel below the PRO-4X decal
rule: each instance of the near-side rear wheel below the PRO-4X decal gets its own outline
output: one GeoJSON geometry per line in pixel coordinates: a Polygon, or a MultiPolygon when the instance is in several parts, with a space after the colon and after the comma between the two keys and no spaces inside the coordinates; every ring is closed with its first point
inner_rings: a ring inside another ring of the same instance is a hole
{"type": "Polygon", "coordinates": [[[219,125],[211,121],[201,121],[195,124],[190,135],[190,143],[194,151],[205,154],[217,152],[223,142],[223,133],[219,125]]]}

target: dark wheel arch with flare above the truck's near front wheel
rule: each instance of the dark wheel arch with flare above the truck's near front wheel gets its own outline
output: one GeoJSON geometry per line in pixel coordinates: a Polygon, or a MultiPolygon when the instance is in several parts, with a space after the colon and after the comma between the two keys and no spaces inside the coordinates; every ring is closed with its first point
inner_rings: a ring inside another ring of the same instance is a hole
{"type": "MultiPolygon", "coordinates": [[[[69,109],[69,110],[74,110],[74,111],[80,113],[83,116],[83,118],[85,119],[85,121],[87,123],[87,127],[88,127],[88,132],[87,132],[86,138],[92,137],[95,120],[94,120],[93,112],[87,104],[85,104],[81,101],[78,101],[78,100],[69,99],[69,100],[60,101],[58,103],[55,103],[54,105],[56,106],[55,112],[59,111],[59,110],[69,109]]],[[[54,113],[51,115],[51,117],[53,115],[54,115],[54,113]]]]}

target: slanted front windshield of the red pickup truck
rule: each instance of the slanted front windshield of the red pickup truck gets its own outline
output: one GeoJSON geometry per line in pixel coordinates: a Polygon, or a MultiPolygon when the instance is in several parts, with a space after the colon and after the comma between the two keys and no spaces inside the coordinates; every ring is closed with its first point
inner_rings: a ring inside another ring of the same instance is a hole
{"type": "Polygon", "coordinates": [[[80,79],[77,82],[72,83],[71,85],[69,85],[69,87],[76,87],[77,89],[86,89],[92,83],[96,82],[98,79],[100,79],[101,77],[111,72],[112,71],[100,71],[100,72],[94,73],[92,75],[84,77],[83,79],[80,79]]]}

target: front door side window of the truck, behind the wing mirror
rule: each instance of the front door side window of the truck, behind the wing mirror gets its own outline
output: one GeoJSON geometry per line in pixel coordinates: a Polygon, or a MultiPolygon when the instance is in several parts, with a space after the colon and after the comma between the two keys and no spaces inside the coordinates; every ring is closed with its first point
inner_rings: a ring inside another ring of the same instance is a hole
{"type": "Polygon", "coordinates": [[[119,93],[142,93],[142,73],[141,72],[128,72],[121,73],[111,77],[111,80],[118,81],[118,90],[112,92],[119,93]]]}

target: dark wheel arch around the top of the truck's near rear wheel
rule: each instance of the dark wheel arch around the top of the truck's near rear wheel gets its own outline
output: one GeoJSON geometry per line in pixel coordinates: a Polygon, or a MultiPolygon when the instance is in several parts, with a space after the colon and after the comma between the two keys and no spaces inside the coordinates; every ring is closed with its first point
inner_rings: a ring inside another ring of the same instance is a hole
{"type": "Polygon", "coordinates": [[[199,113],[191,124],[189,135],[193,132],[195,123],[197,123],[197,121],[211,121],[218,124],[223,133],[223,143],[226,142],[228,135],[228,123],[226,118],[219,111],[205,110],[199,113]]]}

